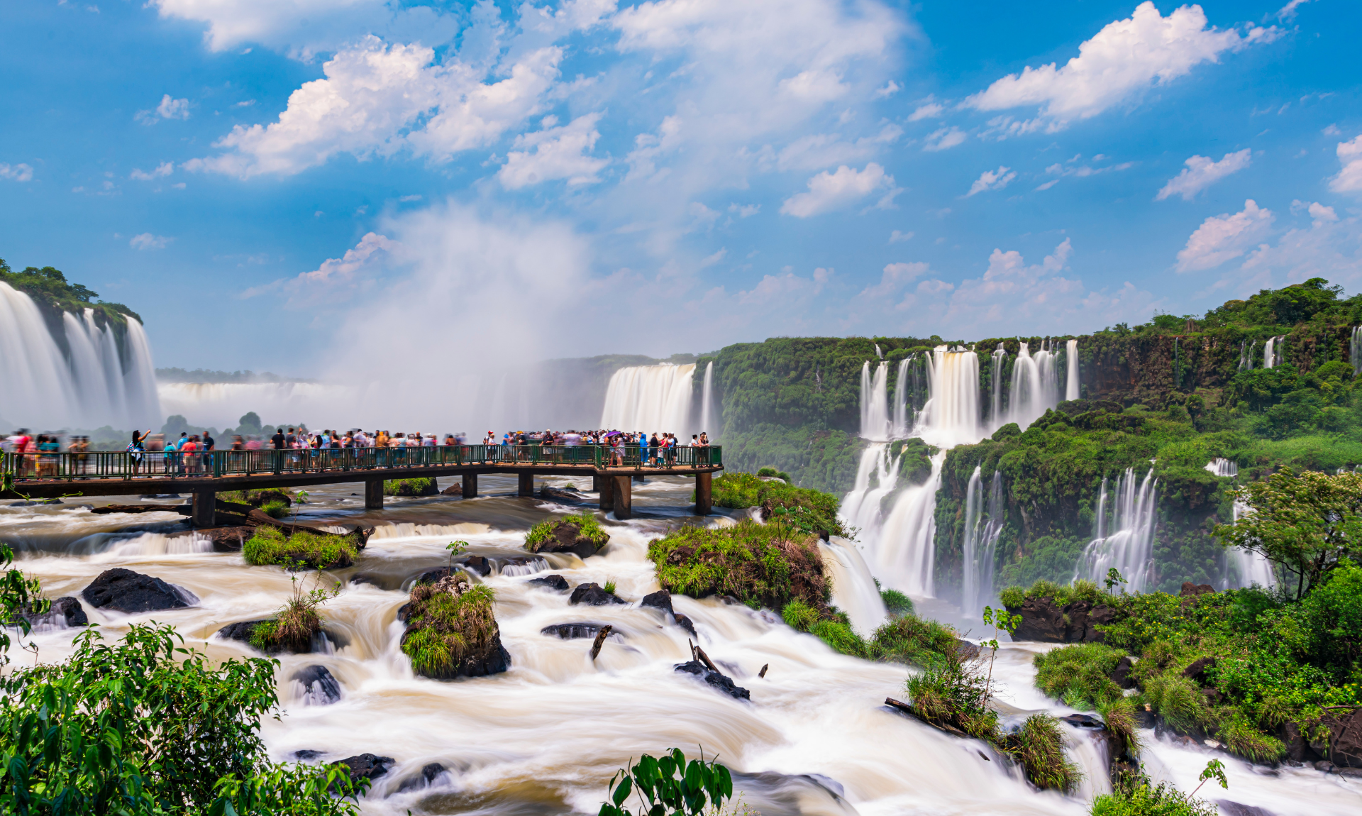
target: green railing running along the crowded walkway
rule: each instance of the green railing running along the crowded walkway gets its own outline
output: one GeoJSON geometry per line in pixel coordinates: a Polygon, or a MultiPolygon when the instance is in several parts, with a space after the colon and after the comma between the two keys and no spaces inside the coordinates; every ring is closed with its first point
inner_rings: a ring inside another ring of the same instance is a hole
{"type": "MultiPolygon", "coordinates": [[[[723,465],[719,447],[433,445],[421,448],[272,448],[256,451],[87,451],[5,454],[15,482],[285,475],[460,465],[693,469],[723,465]]],[[[395,478],[400,478],[396,477],[395,478]]]]}

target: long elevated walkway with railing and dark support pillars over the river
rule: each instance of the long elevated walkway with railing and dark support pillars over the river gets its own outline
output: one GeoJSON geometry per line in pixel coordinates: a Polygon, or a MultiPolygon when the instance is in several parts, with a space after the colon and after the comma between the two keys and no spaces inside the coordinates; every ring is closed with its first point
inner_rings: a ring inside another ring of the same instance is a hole
{"type": "Polygon", "coordinates": [[[535,475],[591,477],[602,511],[632,518],[631,484],[648,475],[695,477],[695,512],[710,515],[711,478],[723,450],[606,448],[601,445],[434,445],[421,448],[302,448],[208,452],[87,451],[5,454],[4,499],[68,499],[191,493],[193,524],[214,527],[217,493],[364,482],[365,509],[383,507],[383,482],[460,477],[462,495],[478,495],[478,475],[519,477],[519,495],[534,495],[535,475]]]}

